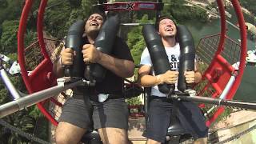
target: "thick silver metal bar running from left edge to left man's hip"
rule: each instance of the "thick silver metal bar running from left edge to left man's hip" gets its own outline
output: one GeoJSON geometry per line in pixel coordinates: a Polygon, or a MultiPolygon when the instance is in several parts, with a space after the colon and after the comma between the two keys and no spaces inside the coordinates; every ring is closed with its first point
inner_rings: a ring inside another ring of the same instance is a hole
{"type": "Polygon", "coordinates": [[[0,118],[5,117],[6,115],[13,114],[18,110],[22,110],[28,106],[32,106],[38,102],[54,96],[55,94],[61,93],[63,90],[70,89],[74,86],[84,86],[89,85],[87,81],[80,79],[76,82],[69,82],[65,86],[54,86],[46,90],[38,91],[34,94],[26,95],[25,97],[18,98],[13,102],[8,102],[0,106],[0,118]]]}

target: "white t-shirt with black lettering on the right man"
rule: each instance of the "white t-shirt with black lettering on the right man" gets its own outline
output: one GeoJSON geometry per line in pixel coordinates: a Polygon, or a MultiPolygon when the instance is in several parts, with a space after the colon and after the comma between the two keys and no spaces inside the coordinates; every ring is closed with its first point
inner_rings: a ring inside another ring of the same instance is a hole
{"type": "MultiPolygon", "coordinates": [[[[169,62],[170,62],[170,68],[171,70],[178,70],[179,66],[179,56],[180,56],[180,46],[179,43],[176,43],[175,46],[173,47],[165,47],[166,49],[166,54],[168,56],[169,62]]],[[[152,66],[151,58],[150,58],[150,53],[149,50],[146,48],[142,52],[142,57],[141,57],[141,65],[147,65],[147,66],[152,66]]],[[[153,75],[154,75],[154,70],[153,70],[153,75]]],[[[177,91],[177,83],[175,83],[175,90],[177,91]]],[[[158,90],[158,86],[152,86],[151,88],[151,95],[158,96],[158,97],[166,97],[166,94],[161,93],[158,90]]]]}

